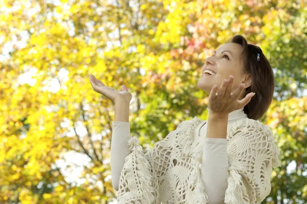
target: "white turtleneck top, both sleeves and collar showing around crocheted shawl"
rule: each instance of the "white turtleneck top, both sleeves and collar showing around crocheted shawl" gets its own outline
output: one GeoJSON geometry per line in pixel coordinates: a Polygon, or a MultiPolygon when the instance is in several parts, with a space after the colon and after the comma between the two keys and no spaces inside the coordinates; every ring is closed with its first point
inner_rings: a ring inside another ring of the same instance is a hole
{"type": "MultiPolygon", "coordinates": [[[[233,111],[228,115],[228,124],[243,118],[247,118],[243,108],[233,111]]],[[[125,158],[131,153],[127,145],[130,139],[130,123],[113,121],[112,125],[111,174],[113,187],[118,190],[125,158]]],[[[207,122],[204,121],[201,125],[200,136],[206,137],[207,122]]],[[[224,203],[228,187],[228,163],[227,139],[205,138],[201,174],[209,198],[208,203],[224,203]]]]}

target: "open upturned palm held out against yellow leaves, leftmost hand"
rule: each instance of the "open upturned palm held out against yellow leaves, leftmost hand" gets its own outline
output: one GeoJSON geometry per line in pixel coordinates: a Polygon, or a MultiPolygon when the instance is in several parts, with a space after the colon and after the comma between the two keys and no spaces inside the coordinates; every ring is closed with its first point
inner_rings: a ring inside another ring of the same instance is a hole
{"type": "Polygon", "coordinates": [[[130,103],[132,95],[125,85],[122,85],[120,88],[121,90],[118,91],[112,87],[105,86],[100,80],[97,80],[93,74],[90,74],[90,82],[94,91],[109,98],[113,103],[116,103],[116,101],[126,101],[130,103]]]}

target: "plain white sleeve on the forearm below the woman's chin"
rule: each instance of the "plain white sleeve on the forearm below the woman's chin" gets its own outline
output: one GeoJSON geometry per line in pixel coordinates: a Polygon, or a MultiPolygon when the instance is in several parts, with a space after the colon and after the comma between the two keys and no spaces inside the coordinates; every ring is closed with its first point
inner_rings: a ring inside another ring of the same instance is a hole
{"type": "Polygon", "coordinates": [[[208,195],[207,204],[221,204],[224,203],[229,177],[227,139],[204,138],[204,140],[201,174],[208,195]]]}

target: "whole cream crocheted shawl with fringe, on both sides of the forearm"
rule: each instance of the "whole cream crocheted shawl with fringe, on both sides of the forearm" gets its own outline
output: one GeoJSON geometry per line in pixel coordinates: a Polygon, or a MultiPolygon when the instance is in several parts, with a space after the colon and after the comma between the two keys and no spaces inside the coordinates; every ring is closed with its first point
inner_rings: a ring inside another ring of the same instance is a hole
{"type": "MultiPolygon", "coordinates": [[[[118,203],[207,203],[201,179],[204,136],[198,117],[183,121],[144,154],[136,137],[120,176],[118,203]]],[[[279,150],[269,126],[244,118],[228,124],[228,188],[225,203],[261,202],[271,191],[279,150]]]]}

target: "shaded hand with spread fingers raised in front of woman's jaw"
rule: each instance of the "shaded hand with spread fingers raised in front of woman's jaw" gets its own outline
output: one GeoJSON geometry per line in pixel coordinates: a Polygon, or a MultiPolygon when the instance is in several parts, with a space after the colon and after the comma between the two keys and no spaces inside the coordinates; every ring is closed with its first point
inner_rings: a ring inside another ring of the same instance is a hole
{"type": "Polygon", "coordinates": [[[240,84],[238,88],[231,93],[232,85],[233,77],[230,75],[229,80],[224,80],[218,92],[217,86],[213,86],[209,95],[210,114],[216,114],[220,117],[228,118],[229,113],[245,107],[255,95],[252,92],[247,94],[242,100],[238,100],[245,88],[244,84],[240,84]]]}

